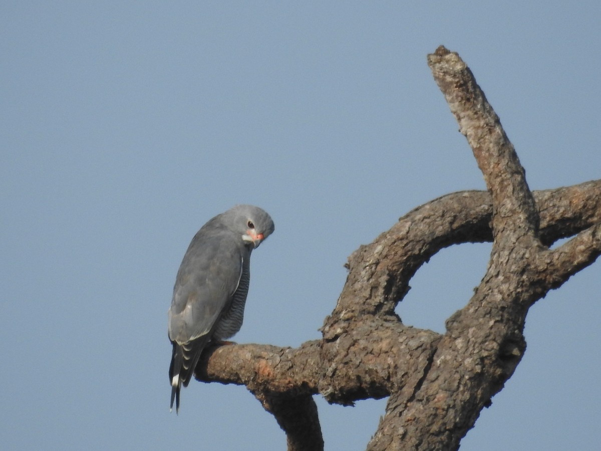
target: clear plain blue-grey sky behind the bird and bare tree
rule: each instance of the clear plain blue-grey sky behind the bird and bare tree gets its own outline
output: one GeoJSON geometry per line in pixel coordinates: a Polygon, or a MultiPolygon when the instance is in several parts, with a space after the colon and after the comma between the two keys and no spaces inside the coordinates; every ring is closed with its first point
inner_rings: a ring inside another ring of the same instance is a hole
{"type": "MultiPolygon", "coordinates": [[[[239,343],[299,346],[347,257],[398,217],[485,189],[426,55],[471,67],[532,189],[601,178],[601,4],[0,4],[0,447],[281,450],[244,388],[193,381],[169,413],[167,310],[192,236],[251,203],[239,343]]],[[[490,244],[434,256],[398,306],[444,332],[490,244]]],[[[538,301],[525,356],[462,441],[593,450],[601,262],[538,301]]],[[[315,397],[326,450],[365,449],[386,400],[315,397]]]]}

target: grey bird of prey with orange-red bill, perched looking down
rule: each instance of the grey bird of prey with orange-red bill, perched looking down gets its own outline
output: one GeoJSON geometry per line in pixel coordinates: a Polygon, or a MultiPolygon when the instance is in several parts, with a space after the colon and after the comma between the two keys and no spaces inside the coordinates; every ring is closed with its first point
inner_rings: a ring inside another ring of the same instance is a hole
{"type": "Polygon", "coordinates": [[[180,410],[203,349],[223,342],[242,327],[251,278],[251,252],[275,230],[266,211],[236,205],[210,219],[192,239],[177,271],[168,311],[173,346],[169,382],[171,407],[180,410]]]}

